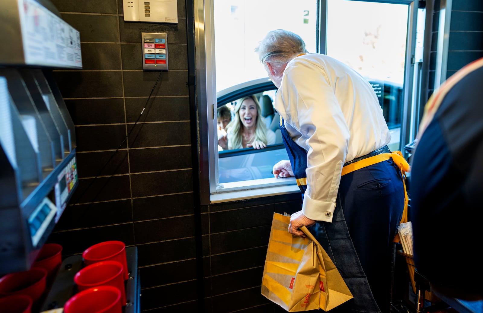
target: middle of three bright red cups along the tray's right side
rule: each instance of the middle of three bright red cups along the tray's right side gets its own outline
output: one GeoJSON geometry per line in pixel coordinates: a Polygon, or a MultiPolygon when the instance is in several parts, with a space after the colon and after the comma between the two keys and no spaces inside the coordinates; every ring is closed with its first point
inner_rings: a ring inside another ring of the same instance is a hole
{"type": "Polygon", "coordinates": [[[117,261],[102,261],[86,266],[74,276],[79,291],[97,287],[114,286],[121,291],[121,305],[126,305],[126,287],[123,277],[124,267],[117,261]]]}

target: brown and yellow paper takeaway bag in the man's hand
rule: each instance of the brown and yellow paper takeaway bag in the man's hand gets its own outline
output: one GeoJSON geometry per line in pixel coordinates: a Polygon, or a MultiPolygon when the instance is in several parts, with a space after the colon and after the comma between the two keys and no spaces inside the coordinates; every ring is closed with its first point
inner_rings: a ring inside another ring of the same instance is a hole
{"type": "Polygon", "coordinates": [[[288,312],[329,311],[352,299],[327,252],[306,227],[307,238],[288,232],[290,216],[274,213],[262,279],[262,295],[288,312]]]}

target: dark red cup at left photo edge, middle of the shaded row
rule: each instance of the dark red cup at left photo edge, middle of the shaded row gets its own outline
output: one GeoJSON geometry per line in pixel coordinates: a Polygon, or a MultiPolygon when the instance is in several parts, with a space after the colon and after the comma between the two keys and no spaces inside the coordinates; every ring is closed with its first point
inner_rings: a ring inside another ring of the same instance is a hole
{"type": "Polygon", "coordinates": [[[47,271],[43,268],[7,274],[0,278],[0,297],[26,295],[35,304],[45,291],[46,278],[47,271]]]}

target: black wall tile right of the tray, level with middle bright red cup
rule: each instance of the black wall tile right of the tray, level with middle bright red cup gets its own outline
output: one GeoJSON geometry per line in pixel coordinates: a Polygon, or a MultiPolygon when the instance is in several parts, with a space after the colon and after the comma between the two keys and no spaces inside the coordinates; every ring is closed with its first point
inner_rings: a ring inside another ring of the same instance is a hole
{"type": "Polygon", "coordinates": [[[139,269],[142,288],[196,279],[196,259],[177,261],[139,269]]]}

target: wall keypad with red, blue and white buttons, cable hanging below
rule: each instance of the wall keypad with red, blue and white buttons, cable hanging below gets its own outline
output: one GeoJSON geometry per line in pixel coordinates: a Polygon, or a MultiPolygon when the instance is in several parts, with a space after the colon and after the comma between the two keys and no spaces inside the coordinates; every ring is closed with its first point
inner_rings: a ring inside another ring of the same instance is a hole
{"type": "Polygon", "coordinates": [[[168,70],[168,36],[164,33],[141,33],[142,69],[168,70]]]}

